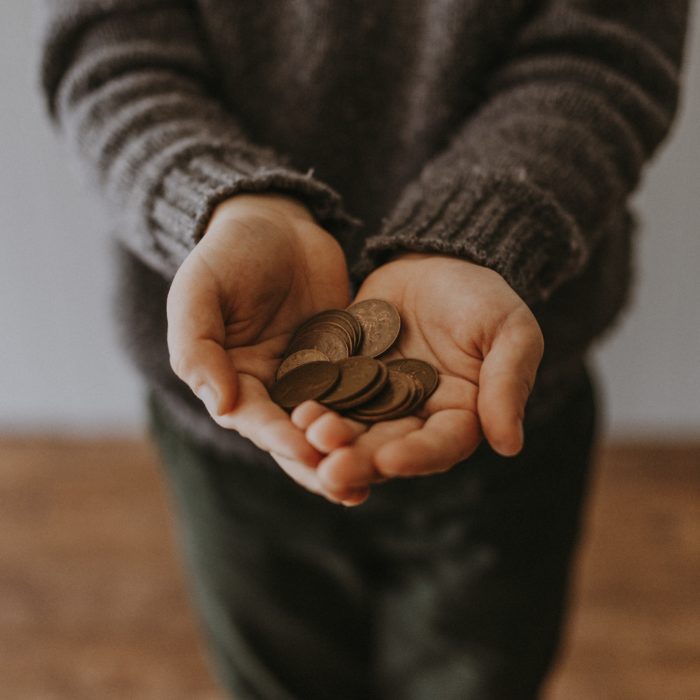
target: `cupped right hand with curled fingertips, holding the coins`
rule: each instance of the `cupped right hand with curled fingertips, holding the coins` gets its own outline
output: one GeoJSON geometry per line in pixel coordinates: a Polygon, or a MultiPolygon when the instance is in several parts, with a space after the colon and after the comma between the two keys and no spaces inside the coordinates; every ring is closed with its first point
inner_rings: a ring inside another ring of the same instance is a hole
{"type": "Polygon", "coordinates": [[[386,299],[401,314],[399,341],[382,359],[426,360],[438,369],[440,384],[418,416],[358,426],[359,437],[344,445],[328,437],[340,434],[339,416],[311,402],[300,406],[292,420],[327,453],[318,467],[326,491],[351,502],[353,491],[366,497],[382,479],[445,471],[482,436],[502,455],[519,452],[544,342],[505,280],[456,258],[405,254],[365,280],[357,300],[368,298],[386,299]]]}

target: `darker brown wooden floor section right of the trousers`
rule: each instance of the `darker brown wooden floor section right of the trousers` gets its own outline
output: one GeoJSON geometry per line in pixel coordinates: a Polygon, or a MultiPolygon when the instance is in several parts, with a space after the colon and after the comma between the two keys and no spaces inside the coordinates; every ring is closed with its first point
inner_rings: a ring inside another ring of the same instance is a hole
{"type": "Polygon", "coordinates": [[[700,444],[603,450],[548,700],[700,699],[700,444]]]}

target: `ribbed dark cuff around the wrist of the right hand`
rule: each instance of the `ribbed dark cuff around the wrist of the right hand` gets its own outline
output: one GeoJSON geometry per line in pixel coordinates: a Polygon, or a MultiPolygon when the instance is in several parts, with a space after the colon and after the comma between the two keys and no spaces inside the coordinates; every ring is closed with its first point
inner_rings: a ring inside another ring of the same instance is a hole
{"type": "Polygon", "coordinates": [[[399,251],[453,255],[495,270],[529,304],[543,301],[583,266],[575,221],[524,180],[475,169],[465,178],[421,177],[353,268],[360,280],[399,251]]]}

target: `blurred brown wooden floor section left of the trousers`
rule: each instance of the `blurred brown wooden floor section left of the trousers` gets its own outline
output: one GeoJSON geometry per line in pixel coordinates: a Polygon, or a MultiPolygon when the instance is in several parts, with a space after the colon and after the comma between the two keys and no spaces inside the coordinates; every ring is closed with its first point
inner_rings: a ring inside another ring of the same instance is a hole
{"type": "Polygon", "coordinates": [[[149,447],[6,440],[0,455],[0,697],[223,697],[149,447]]]}

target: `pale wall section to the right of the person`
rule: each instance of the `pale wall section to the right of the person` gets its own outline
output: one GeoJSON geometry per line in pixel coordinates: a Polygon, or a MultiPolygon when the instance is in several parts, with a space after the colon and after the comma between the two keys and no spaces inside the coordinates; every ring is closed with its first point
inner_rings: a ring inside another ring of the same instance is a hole
{"type": "Polygon", "coordinates": [[[700,437],[700,12],[681,111],[636,197],[641,219],[629,312],[596,353],[616,436],[700,437]]]}

